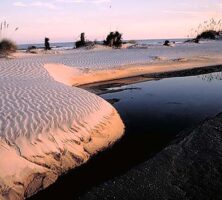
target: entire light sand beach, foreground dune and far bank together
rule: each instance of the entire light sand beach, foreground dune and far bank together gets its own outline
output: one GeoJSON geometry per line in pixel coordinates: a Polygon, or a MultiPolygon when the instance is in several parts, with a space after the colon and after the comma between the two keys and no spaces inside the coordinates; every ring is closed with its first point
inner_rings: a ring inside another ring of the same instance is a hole
{"type": "Polygon", "coordinates": [[[121,140],[116,109],[80,86],[221,64],[221,41],[0,59],[0,198],[30,197],[121,140]]]}

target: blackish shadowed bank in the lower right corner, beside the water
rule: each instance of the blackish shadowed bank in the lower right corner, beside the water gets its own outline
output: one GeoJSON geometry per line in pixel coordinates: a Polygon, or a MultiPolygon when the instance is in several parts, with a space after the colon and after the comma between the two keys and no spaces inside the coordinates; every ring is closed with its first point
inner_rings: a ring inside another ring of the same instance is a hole
{"type": "Polygon", "coordinates": [[[78,199],[221,199],[221,122],[219,113],[181,132],[153,158],[78,199]]]}

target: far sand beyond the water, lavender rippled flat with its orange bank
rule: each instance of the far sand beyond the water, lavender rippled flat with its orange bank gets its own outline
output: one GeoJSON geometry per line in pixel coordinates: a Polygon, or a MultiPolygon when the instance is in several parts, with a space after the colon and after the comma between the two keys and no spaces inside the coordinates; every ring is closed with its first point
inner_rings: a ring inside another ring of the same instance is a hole
{"type": "Polygon", "coordinates": [[[57,81],[83,85],[141,74],[175,71],[222,63],[220,41],[148,46],[146,49],[67,50],[60,54],[20,54],[21,62],[45,66],[57,81]],[[23,58],[22,58],[23,57],[23,58]],[[55,73],[56,71],[56,73],[55,73]],[[58,76],[57,76],[58,75],[58,76]]]}

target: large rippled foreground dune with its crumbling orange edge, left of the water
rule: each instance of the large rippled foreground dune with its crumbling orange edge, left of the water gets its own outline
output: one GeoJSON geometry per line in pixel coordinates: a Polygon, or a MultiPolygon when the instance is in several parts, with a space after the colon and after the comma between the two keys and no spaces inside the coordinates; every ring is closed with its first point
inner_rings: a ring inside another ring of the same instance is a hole
{"type": "Polygon", "coordinates": [[[110,104],[56,82],[43,63],[44,57],[0,60],[0,199],[48,187],[124,132],[110,104]]]}

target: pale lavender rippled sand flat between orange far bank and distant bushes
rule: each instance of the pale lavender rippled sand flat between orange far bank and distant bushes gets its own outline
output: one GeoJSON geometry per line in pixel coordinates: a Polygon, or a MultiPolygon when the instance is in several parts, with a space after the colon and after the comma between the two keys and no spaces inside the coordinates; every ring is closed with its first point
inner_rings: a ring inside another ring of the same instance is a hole
{"type": "MultiPolygon", "coordinates": [[[[23,54],[31,62],[64,64],[81,69],[112,69],[125,65],[150,63],[159,58],[173,60],[221,54],[222,42],[178,44],[175,47],[150,46],[147,49],[92,49],[67,50],[58,54],[23,54]]],[[[21,53],[15,56],[22,57],[21,53]]]]}

